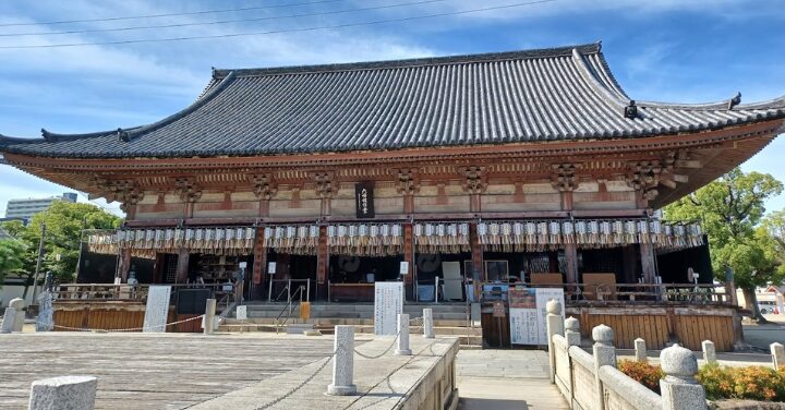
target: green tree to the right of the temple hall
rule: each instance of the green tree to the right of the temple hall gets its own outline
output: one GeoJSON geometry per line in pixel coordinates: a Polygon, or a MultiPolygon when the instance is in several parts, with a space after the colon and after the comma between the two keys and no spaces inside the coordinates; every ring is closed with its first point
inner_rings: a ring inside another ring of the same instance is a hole
{"type": "Polygon", "coordinates": [[[745,173],[736,168],[698,191],[665,207],[665,219],[700,221],[709,234],[712,268],[730,268],[742,290],[746,308],[759,321],[754,289],[782,280],[768,230],[759,229],[763,203],[783,191],[782,182],[768,173],[745,173]]]}

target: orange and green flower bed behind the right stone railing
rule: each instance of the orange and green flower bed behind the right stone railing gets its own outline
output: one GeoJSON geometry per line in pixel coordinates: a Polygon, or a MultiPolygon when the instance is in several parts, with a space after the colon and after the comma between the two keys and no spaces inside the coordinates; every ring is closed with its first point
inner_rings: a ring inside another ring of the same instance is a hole
{"type": "MultiPolygon", "coordinates": [[[[618,369],[649,389],[660,394],[660,366],[623,360],[618,369]]],[[[709,400],[741,399],[785,401],[785,366],[778,370],[763,366],[728,367],[706,364],[696,376],[705,388],[709,400]]]]}

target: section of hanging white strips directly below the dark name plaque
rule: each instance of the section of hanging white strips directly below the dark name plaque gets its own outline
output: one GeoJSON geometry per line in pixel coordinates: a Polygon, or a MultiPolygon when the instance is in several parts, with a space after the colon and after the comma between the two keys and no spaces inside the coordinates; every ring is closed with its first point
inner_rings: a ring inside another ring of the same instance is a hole
{"type": "Polygon", "coordinates": [[[403,253],[403,228],[398,224],[330,225],[327,244],[334,255],[399,255],[403,253]]]}

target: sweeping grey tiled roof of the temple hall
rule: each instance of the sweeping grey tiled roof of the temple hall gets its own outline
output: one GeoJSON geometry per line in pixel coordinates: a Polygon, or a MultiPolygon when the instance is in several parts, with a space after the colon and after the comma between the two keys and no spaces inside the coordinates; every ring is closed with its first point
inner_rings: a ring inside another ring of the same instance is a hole
{"type": "Polygon", "coordinates": [[[0,137],[52,157],[192,157],[627,138],[785,118],[785,98],[637,102],[599,44],[430,59],[215,70],[190,107],[128,130],[0,137]]]}

